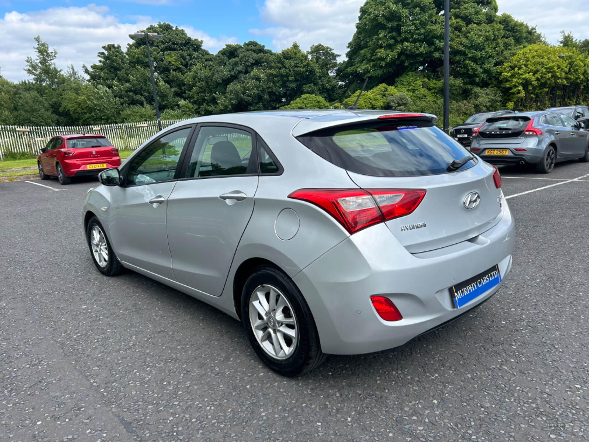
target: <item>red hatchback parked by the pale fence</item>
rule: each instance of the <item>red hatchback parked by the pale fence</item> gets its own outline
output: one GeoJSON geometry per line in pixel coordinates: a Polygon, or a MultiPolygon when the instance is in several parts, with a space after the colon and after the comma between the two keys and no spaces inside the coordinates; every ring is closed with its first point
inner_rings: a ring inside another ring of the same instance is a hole
{"type": "Polygon", "coordinates": [[[60,135],[51,138],[37,159],[39,177],[57,176],[59,183],[71,177],[98,175],[121,165],[118,149],[102,135],[60,135]]]}

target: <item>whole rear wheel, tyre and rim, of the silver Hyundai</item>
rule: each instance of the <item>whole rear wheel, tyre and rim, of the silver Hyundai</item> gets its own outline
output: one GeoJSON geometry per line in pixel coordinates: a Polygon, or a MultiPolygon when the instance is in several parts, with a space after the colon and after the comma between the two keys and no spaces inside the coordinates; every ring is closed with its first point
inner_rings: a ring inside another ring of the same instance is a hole
{"type": "Polygon", "coordinates": [[[292,279],[273,266],[260,266],[247,279],[241,319],[258,357],[279,374],[305,374],[327,357],[305,298],[292,279]]]}

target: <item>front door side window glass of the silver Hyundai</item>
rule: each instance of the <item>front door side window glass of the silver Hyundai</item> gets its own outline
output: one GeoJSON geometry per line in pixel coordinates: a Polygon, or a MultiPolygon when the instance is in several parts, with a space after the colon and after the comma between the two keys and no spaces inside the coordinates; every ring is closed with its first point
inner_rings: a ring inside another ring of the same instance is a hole
{"type": "Polygon", "coordinates": [[[174,179],[178,159],[189,133],[190,127],[168,133],[138,153],[129,165],[127,185],[174,179]]]}

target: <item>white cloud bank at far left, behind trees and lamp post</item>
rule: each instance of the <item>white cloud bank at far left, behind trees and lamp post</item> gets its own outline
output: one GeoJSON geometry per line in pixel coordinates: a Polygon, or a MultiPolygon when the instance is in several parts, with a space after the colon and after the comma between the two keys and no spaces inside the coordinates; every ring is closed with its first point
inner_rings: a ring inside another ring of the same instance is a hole
{"type": "MultiPolygon", "coordinates": [[[[128,34],[157,22],[144,16],[133,17],[131,21],[123,23],[109,14],[107,6],[94,4],[24,14],[8,12],[0,18],[0,74],[12,81],[28,78],[24,71],[25,60],[35,56],[33,37],[36,35],[57,50],[58,68],[65,70],[74,64],[81,70],[82,63],[90,66],[97,61],[97,53],[105,44],[120,44],[124,49],[130,42],[128,34]]],[[[192,27],[185,29],[191,37],[202,39],[204,48],[211,51],[219,50],[226,42],[236,41],[224,36],[213,38],[192,27]]]]}

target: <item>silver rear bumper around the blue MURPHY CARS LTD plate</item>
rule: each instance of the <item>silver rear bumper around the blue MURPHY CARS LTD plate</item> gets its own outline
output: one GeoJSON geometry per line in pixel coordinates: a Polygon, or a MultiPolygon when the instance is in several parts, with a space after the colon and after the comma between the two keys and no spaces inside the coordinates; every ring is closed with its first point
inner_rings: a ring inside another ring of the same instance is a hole
{"type": "Polygon", "coordinates": [[[504,203],[501,220],[487,232],[431,252],[409,253],[385,225],[339,243],[293,278],[313,312],[323,352],[398,347],[482,304],[502,283],[458,309],[449,288],[495,264],[504,279],[511,269],[514,229],[504,203]],[[383,321],[371,295],[387,296],[403,319],[383,321]]]}

